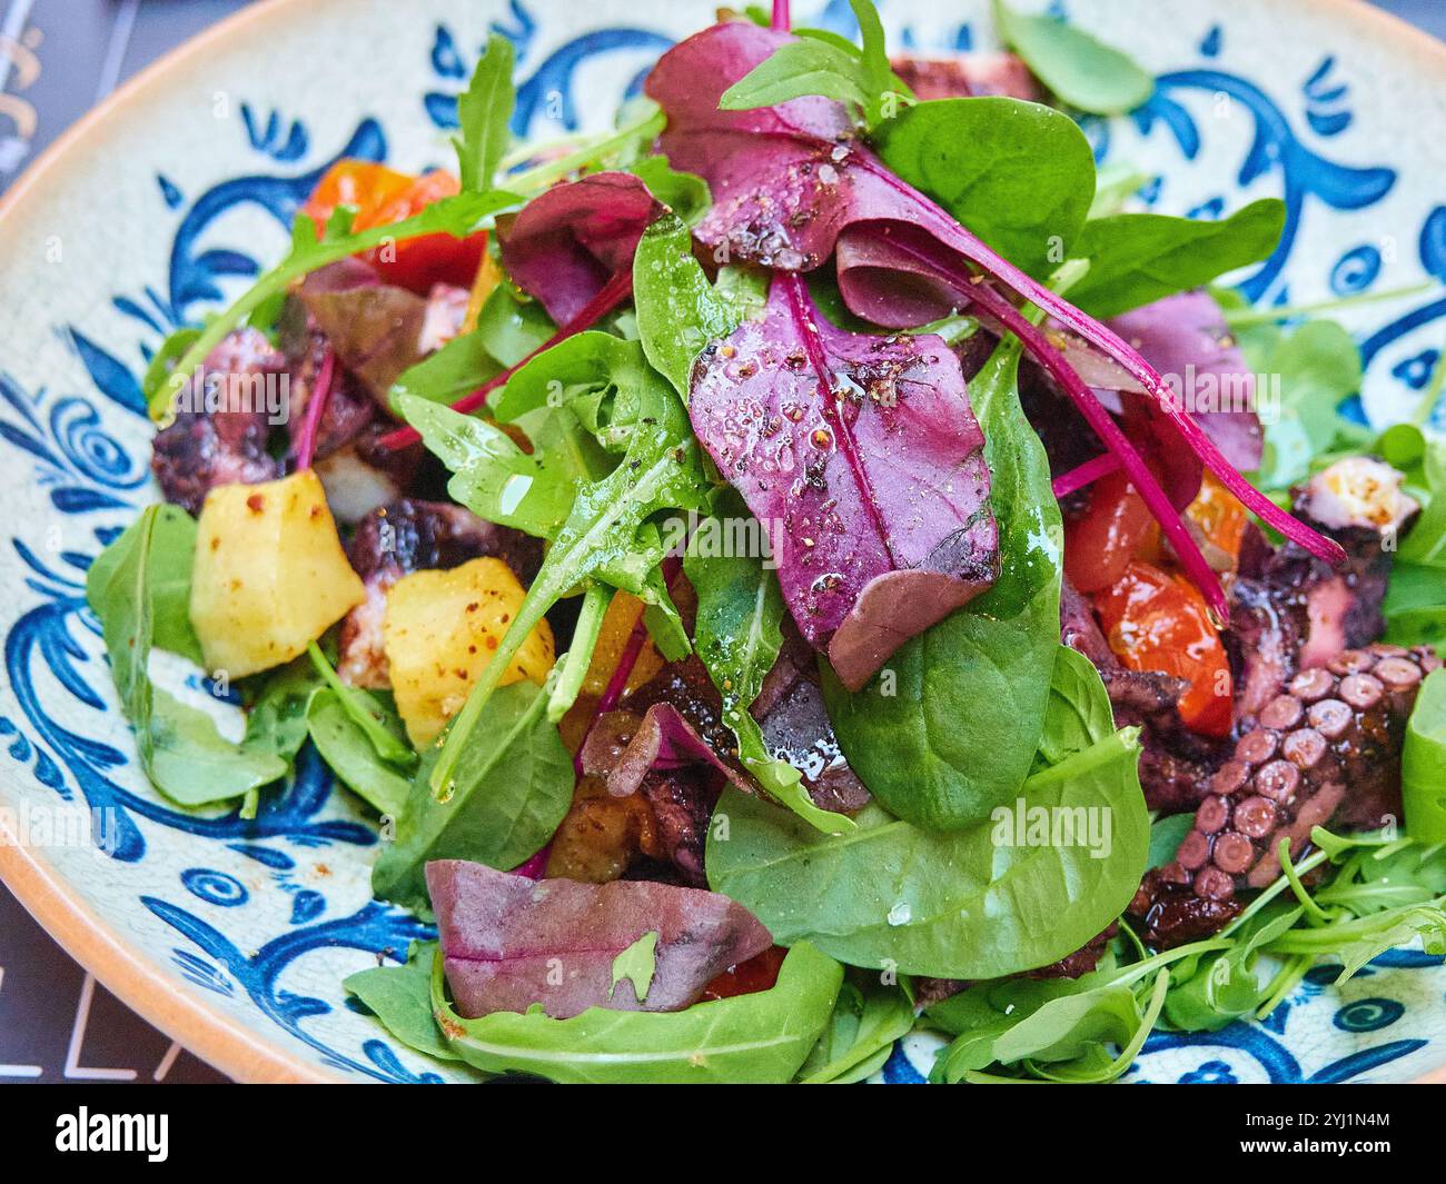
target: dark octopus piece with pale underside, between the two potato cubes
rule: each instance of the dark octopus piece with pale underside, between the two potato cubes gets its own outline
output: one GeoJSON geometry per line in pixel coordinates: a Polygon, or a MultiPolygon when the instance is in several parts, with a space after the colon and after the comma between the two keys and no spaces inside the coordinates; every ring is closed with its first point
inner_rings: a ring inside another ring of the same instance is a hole
{"type": "Polygon", "coordinates": [[[526,585],[542,564],[542,544],[450,502],[403,497],[362,520],[347,555],[366,585],[366,600],[341,623],[337,672],[353,687],[385,688],[390,678],[382,622],[392,584],[412,571],[453,568],[492,555],[526,585]]]}

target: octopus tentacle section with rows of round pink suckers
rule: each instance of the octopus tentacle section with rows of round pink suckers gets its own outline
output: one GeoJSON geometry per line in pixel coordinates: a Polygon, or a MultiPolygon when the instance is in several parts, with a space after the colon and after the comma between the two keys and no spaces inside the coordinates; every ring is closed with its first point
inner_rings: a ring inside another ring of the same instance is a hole
{"type": "Polygon", "coordinates": [[[1129,911],[1147,940],[1178,945],[1220,928],[1239,912],[1236,892],[1280,875],[1281,838],[1299,859],[1312,827],[1398,817],[1406,721],[1437,666],[1427,648],[1372,645],[1291,678],[1210,778],[1174,860],[1145,876],[1129,911]]]}

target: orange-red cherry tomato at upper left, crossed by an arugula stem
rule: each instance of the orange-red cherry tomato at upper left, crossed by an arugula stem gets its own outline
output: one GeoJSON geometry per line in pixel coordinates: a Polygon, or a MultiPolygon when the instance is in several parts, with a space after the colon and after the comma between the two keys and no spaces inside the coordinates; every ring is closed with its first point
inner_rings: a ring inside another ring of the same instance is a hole
{"type": "MultiPolygon", "coordinates": [[[[411,176],[370,160],[337,160],[307,198],[301,213],[317,224],[320,233],[338,205],[350,205],[356,210],[351,228],[370,230],[409,218],[457,191],[457,178],[440,169],[411,176]]],[[[486,249],[486,233],[463,240],[450,234],[425,234],[375,247],[363,259],[388,283],[425,296],[434,283],[470,288],[486,249]]]]}

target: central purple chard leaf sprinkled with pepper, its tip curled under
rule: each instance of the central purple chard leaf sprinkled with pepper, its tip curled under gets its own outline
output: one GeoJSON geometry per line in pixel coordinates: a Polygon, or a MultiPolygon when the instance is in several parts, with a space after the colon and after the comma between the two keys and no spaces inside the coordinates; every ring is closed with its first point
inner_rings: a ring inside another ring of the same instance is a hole
{"type": "Polygon", "coordinates": [[[850,690],[993,583],[983,434],[940,338],[837,330],[781,273],[763,318],[704,350],[688,412],[850,690]]]}

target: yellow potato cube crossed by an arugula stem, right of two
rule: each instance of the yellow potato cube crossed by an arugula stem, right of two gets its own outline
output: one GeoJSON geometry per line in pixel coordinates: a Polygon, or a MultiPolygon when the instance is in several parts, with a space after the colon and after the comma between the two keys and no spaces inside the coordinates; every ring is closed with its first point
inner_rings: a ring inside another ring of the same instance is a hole
{"type": "MultiPolygon", "coordinates": [[[[471,559],[450,571],[414,571],[386,594],[382,625],[396,710],[414,745],[437,739],[467,701],[525,596],[502,559],[471,559]]],[[[552,630],[534,629],[497,684],[541,684],[552,669],[552,630]]]]}

